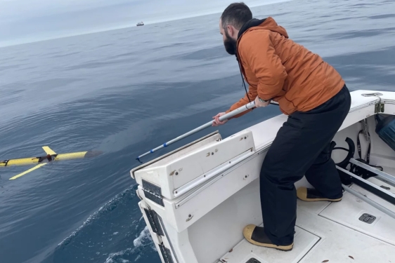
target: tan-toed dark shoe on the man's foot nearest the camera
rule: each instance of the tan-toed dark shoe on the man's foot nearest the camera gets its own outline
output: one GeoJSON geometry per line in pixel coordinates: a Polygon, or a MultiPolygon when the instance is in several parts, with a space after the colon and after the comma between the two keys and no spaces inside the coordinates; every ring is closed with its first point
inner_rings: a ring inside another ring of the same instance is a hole
{"type": "Polygon", "coordinates": [[[245,239],[253,245],[259,245],[265,248],[276,248],[277,250],[290,251],[294,247],[294,243],[290,245],[275,245],[266,235],[263,227],[257,227],[254,224],[249,224],[242,231],[245,239]]]}

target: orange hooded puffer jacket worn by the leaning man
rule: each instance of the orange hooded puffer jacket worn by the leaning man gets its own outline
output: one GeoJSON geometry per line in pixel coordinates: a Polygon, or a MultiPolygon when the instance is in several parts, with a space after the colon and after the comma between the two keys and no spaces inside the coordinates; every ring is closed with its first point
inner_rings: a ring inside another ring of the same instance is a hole
{"type": "Polygon", "coordinates": [[[284,114],[306,112],[329,100],[344,86],[342,76],[333,67],[288,39],[285,29],[271,17],[253,19],[243,25],[237,51],[242,74],[250,86],[245,97],[227,113],[254,101],[257,95],[262,100],[278,102],[284,114]]]}

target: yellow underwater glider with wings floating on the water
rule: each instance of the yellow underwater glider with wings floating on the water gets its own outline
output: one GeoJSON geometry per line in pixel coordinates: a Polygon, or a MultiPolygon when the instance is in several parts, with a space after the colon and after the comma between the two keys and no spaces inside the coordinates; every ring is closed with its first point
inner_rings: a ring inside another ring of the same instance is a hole
{"type": "Polygon", "coordinates": [[[27,173],[30,173],[33,170],[40,168],[41,166],[45,166],[47,163],[49,163],[51,161],[82,159],[82,158],[95,157],[95,156],[102,154],[102,151],[79,151],[79,152],[72,152],[72,153],[68,153],[68,154],[56,154],[56,152],[53,151],[48,146],[43,146],[42,148],[46,152],[46,156],[23,158],[23,159],[10,159],[10,160],[6,160],[6,161],[0,161],[0,167],[29,166],[34,163],[38,163],[37,166],[34,166],[33,168],[30,168],[29,170],[25,170],[25,172],[15,175],[9,179],[9,180],[15,180],[18,177],[21,177],[22,175],[26,175],[27,173]]]}

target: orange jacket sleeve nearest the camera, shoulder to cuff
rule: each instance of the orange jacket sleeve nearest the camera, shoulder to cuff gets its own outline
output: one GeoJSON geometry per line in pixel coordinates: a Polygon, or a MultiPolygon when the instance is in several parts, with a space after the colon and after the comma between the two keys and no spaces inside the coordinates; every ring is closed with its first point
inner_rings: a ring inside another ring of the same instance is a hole
{"type": "Polygon", "coordinates": [[[259,80],[257,95],[261,99],[271,100],[285,94],[287,72],[273,47],[270,31],[254,30],[245,34],[240,40],[239,53],[259,80]]]}

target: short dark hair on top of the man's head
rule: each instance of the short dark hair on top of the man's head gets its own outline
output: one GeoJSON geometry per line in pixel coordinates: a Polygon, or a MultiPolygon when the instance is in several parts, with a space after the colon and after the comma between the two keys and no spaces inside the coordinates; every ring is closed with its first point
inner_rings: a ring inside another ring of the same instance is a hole
{"type": "Polygon", "coordinates": [[[221,15],[222,27],[225,30],[228,25],[233,25],[235,29],[240,30],[242,25],[251,19],[252,12],[243,2],[230,4],[221,15]]]}

